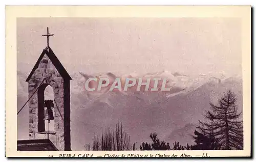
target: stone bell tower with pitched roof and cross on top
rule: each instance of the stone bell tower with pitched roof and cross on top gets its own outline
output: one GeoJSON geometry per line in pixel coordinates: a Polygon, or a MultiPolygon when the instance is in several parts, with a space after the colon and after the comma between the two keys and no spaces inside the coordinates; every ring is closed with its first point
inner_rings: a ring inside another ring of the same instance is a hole
{"type": "Polygon", "coordinates": [[[58,150],[71,150],[70,139],[70,80],[72,78],[61,65],[49,46],[47,28],[47,47],[42,51],[26,82],[29,91],[29,138],[48,137],[58,150]],[[53,89],[54,130],[47,131],[45,125],[46,87],[53,89]]]}

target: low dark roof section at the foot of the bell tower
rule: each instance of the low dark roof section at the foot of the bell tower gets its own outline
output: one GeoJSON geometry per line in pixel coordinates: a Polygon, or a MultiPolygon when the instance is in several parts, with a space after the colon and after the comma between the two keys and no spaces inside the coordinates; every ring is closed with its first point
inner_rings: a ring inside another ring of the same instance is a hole
{"type": "Polygon", "coordinates": [[[17,141],[18,151],[58,151],[49,139],[17,141]]]}

